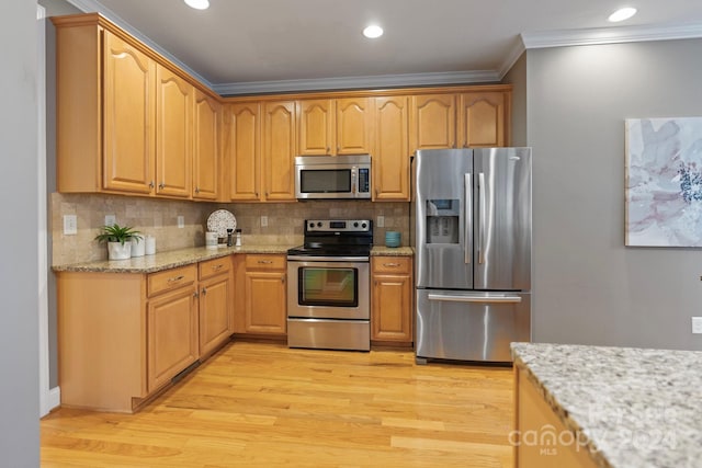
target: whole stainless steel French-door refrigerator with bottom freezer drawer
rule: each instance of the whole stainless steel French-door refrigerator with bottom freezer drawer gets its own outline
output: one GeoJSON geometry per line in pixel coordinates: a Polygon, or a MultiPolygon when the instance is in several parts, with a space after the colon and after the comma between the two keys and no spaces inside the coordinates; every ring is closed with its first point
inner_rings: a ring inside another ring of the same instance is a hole
{"type": "Polygon", "coordinates": [[[417,151],[416,357],[510,362],[531,339],[531,149],[417,151]]]}

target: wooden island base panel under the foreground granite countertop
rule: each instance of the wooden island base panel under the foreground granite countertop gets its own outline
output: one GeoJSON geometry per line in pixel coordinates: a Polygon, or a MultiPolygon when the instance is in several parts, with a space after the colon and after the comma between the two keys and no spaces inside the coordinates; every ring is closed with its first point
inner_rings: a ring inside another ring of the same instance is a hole
{"type": "Polygon", "coordinates": [[[509,437],[514,446],[516,468],[598,466],[582,438],[566,429],[541,390],[519,366],[514,366],[514,431],[509,437]]]}

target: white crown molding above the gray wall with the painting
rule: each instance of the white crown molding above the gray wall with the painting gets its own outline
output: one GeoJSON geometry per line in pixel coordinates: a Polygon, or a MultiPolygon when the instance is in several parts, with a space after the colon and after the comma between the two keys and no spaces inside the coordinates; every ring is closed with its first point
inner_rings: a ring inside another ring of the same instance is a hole
{"type": "Polygon", "coordinates": [[[702,24],[598,27],[521,34],[524,47],[528,49],[699,37],[702,37],[702,24]]]}

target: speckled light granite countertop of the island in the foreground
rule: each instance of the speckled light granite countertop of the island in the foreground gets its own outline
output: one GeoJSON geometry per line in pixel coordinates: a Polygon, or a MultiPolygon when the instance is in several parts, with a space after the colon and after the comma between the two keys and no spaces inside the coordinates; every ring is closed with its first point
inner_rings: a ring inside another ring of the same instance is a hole
{"type": "Polygon", "coordinates": [[[702,466],[702,352],[512,343],[512,354],[599,466],[702,466]]]}

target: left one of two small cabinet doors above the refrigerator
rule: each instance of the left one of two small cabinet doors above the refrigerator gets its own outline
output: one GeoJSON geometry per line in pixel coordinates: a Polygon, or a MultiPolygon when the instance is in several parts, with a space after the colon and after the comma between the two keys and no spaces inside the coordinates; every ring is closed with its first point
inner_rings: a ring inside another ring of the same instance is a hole
{"type": "Polygon", "coordinates": [[[411,98],[410,150],[455,148],[455,94],[421,94],[411,98]]]}

